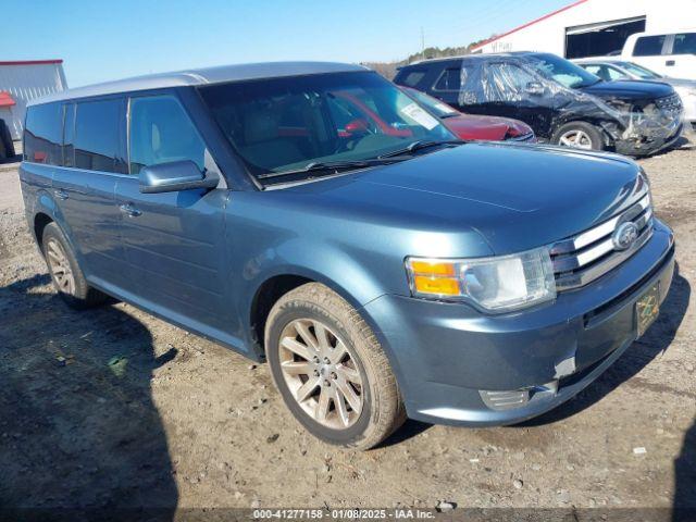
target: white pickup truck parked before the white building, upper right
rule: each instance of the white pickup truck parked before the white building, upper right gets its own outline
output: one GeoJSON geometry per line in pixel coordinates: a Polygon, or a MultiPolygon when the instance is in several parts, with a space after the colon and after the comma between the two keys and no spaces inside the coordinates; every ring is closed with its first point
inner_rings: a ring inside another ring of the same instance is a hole
{"type": "Polygon", "coordinates": [[[624,44],[621,58],[664,76],[696,79],[696,28],[636,33],[624,44]]]}

